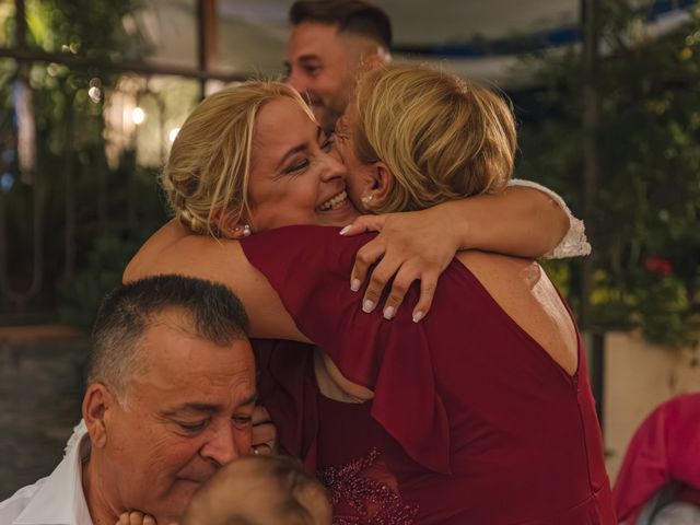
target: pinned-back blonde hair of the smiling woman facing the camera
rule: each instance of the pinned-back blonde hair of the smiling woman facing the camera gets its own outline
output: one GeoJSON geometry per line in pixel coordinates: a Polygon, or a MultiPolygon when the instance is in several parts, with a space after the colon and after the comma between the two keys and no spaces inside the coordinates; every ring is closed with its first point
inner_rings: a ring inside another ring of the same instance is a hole
{"type": "Polygon", "coordinates": [[[220,225],[238,222],[250,212],[255,119],[265,104],[284,96],[315,120],[299,93],[276,81],[224,88],[189,115],[161,176],[168,205],[185,228],[219,237],[224,235],[220,225]]]}

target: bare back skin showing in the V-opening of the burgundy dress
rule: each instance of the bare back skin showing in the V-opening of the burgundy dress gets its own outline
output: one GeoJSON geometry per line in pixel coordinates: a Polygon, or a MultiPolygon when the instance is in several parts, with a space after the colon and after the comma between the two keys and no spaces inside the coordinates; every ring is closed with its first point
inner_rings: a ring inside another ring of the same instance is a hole
{"type": "Polygon", "coordinates": [[[573,320],[545,270],[532,259],[483,252],[458,255],[503,311],[570,375],[578,369],[573,320]]]}

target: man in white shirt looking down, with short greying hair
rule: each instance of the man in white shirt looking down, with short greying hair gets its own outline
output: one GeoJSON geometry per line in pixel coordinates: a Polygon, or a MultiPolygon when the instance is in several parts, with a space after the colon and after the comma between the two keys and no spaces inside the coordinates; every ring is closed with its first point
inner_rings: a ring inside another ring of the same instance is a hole
{"type": "Polygon", "coordinates": [[[250,453],[255,366],[243,306],[219,284],[160,276],[97,315],[84,427],[54,472],[0,503],[2,525],[176,522],[219,467],[250,453]]]}

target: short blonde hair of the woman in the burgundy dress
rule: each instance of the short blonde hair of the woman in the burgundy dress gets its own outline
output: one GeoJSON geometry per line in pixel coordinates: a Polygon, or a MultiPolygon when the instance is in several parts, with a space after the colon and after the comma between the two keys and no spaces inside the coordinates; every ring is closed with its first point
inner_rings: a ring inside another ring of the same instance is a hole
{"type": "Polygon", "coordinates": [[[513,113],[487,88],[427,67],[393,65],[358,80],[354,105],[358,158],[383,161],[397,183],[373,212],[494,192],[512,176],[513,113]]]}

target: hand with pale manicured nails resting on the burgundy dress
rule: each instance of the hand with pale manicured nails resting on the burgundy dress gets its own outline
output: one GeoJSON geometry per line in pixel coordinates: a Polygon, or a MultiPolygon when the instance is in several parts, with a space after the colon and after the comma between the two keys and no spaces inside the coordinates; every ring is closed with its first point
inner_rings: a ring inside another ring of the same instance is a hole
{"type": "Polygon", "coordinates": [[[438,206],[407,213],[362,215],[345,228],[342,235],[380,232],[358,250],[350,276],[350,288],[355,292],[369,278],[362,310],[372,312],[390,283],[384,304],[384,317],[390,319],[410,285],[419,280],[420,299],[412,317],[417,323],[422,319],[432,305],[440,275],[460,247],[454,226],[452,215],[438,206]]]}

